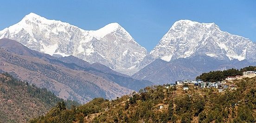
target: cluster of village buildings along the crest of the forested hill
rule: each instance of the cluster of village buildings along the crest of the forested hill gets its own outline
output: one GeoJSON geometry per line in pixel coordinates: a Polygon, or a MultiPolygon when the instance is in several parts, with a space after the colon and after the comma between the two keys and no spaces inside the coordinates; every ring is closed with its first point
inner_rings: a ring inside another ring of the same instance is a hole
{"type": "Polygon", "coordinates": [[[233,84],[233,80],[243,79],[246,77],[252,78],[256,76],[256,71],[246,71],[243,72],[243,76],[236,75],[236,76],[228,76],[225,80],[222,81],[216,81],[216,82],[205,82],[203,80],[178,80],[175,82],[175,84],[166,84],[164,85],[165,88],[177,86],[177,87],[183,87],[183,90],[189,90],[190,87],[196,88],[196,89],[203,89],[203,88],[217,88],[218,92],[224,92],[225,90],[236,90],[237,85],[233,84]]]}

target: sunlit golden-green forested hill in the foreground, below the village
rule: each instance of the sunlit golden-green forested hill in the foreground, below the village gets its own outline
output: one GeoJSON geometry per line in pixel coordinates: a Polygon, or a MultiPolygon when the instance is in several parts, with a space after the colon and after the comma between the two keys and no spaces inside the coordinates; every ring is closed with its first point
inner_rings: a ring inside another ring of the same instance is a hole
{"type": "Polygon", "coordinates": [[[95,98],[67,110],[52,108],[31,123],[255,123],[256,77],[234,80],[236,90],[152,86],[115,100],[95,98]]]}

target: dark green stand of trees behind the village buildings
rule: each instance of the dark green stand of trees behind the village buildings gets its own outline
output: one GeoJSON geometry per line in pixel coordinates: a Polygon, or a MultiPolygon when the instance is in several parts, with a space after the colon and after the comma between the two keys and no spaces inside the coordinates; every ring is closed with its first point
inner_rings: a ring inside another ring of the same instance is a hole
{"type": "Polygon", "coordinates": [[[228,69],[223,71],[210,71],[209,73],[203,73],[199,76],[197,76],[197,80],[201,79],[203,81],[221,81],[225,80],[228,76],[236,76],[236,75],[243,75],[244,71],[256,71],[256,66],[249,66],[245,68],[238,69],[228,69]]]}

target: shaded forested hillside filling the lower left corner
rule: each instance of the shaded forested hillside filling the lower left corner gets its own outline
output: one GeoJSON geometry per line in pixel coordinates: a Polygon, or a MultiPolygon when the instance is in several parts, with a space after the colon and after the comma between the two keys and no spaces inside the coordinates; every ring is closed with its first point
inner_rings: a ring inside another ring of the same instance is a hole
{"type": "Polygon", "coordinates": [[[0,123],[26,123],[30,118],[45,114],[58,102],[67,104],[69,108],[79,105],[17,80],[10,74],[0,74],[0,123]]]}

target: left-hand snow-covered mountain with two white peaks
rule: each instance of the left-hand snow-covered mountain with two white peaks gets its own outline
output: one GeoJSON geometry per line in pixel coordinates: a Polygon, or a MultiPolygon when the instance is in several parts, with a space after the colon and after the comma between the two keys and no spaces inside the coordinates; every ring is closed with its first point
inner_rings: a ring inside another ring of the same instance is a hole
{"type": "Polygon", "coordinates": [[[117,23],[85,31],[35,13],[0,31],[0,38],[13,39],[32,50],[57,57],[73,55],[89,63],[98,62],[129,75],[138,71],[135,66],[147,54],[147,50],[117,23]]]}

